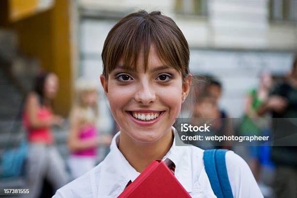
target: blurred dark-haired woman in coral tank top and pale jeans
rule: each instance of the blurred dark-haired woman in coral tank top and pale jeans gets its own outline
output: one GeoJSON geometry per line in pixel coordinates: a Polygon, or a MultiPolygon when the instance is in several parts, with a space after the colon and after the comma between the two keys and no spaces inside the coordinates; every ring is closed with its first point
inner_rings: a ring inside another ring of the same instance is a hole
{"type": "Polygon", "coordinates": [[[58,92],[59,79],[54,73],[36,77],[35,89],[28,94],[23,122],[30,143],[26,162],[25,186],[30,190],[25,197],[39,197],[46,178],[54,189],[68,182],[65,164],[55,147],[51,127],[61,126],[63,118],[52,113],[52,100],[58,92]]]}

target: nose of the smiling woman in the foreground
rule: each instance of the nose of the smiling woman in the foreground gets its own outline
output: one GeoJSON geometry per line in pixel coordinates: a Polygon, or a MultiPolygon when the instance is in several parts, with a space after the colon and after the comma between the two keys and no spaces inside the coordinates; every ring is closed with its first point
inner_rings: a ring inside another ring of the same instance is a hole
{"type": "Polygon", "coordinates": [[[135,93],[135,100],[143,105],[148,105],[156,100],[155,91],[148,81],[143,81],[135,93]]]}

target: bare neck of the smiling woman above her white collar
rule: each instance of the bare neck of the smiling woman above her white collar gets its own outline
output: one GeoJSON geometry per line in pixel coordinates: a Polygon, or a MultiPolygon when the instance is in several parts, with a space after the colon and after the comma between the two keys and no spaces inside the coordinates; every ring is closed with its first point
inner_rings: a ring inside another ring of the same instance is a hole
{"type": "Polygon", "coordinates": [[[119,150],[137,172],[142,172],[152,161],[162,159],[173,143],[171,128],[154,143],[135,142],[126,132],[121,132],[119,138],[119,150]]]}

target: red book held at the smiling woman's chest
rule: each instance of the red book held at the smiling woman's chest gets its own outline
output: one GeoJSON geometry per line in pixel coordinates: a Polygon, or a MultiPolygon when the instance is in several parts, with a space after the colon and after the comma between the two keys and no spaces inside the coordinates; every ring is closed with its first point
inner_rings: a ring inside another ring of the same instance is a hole
{"type": "Polygon", "coordinates": [[[118,198],[191,198],[162,160],[150,163],[118,198]]]}

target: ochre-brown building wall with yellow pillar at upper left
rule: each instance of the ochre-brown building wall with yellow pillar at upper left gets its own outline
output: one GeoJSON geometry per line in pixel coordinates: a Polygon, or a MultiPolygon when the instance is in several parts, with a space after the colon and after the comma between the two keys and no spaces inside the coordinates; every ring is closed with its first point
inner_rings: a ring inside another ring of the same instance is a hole
{"type": "Polygon", "coordinates": [[[54,108],[62,115],[68,115],[72,102],[69,2],[57,0],[52,9],[12,24],[21,53],[37,58],[45,71],[58,75],[60,89],[54,108]]]}

